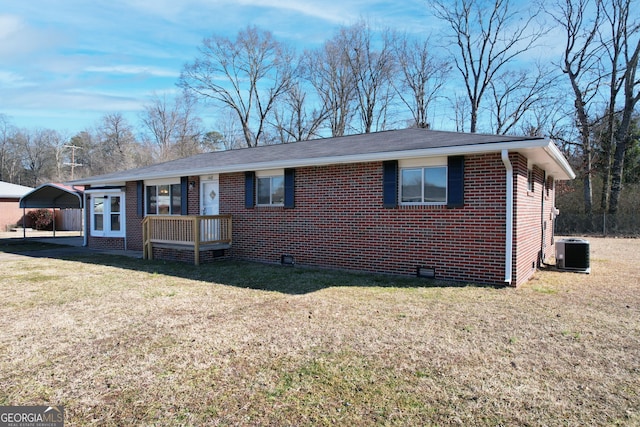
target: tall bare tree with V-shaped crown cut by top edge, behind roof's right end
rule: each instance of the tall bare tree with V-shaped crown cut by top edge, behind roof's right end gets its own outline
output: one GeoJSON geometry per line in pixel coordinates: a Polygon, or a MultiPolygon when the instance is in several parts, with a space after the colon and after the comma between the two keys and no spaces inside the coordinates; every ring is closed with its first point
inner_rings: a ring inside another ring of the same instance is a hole
{"type": "Polygon", "coordinates": [[[455,67],[460,72],[470,104],[470,131],[478,129],[485,92],[509,64],[530,50],[541,36],[538,12],[512,8],[510,0],[434,0],[435,16],[451,31],[457,47],[455,67]],[[525,18],[523,18],[523,15],[525,18]]]}

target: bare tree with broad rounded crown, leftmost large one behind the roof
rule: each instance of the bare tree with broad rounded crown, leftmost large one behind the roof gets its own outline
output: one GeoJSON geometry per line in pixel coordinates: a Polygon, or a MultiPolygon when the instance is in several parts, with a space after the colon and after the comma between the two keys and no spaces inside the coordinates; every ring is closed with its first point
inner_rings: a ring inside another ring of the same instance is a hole
{"type": "Polygon", "coordinates": [[[247,147],[262,142],[276,100],[294,79],[293,54],[268,31],[247,27],[235,40],[205,39],[200,55],[184,66],[179,86],[234,111],[247,147]]]}

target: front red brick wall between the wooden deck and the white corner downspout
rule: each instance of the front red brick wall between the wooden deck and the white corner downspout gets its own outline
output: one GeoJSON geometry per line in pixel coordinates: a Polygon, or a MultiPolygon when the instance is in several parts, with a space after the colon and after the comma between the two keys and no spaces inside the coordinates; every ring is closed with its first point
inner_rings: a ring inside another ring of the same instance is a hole
{"type": "MultiPolygon", "coordinates": [[[[294,209],[244,206],[244,174],[220,176],[235,258],[502,283],[505,168],[499,154],[465,158],[465,206],[385,209],[382,163],[296,169],[294,209]]],[[[525,175],[526,179],[526,175],[525,175]]]]}

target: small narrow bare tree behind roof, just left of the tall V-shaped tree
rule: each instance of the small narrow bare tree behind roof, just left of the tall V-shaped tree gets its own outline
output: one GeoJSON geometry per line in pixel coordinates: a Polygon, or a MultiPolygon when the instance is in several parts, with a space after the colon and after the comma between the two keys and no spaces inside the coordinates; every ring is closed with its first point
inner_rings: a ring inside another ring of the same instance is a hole
{"type": "Polygon", "coordinates": [[[411,112],[413,126],[429,127],[429,108],[447,82],[451,65],[431,52],[429,39],[396,38],[395,52],[400,77],[395,85],[411,112]]]}

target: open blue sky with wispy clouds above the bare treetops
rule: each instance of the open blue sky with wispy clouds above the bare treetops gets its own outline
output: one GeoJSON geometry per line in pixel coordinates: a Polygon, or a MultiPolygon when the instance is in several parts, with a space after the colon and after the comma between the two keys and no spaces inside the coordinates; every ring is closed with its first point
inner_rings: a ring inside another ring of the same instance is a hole
{"type": "Polygon", "coordinates": [[[433,31],[425,0],[4,0],[0,114],[70,136],[108,113],[135,125],[154,94],[177,91],[204,37],[257,25],[302,51],[361,18],[433,31]]]}

